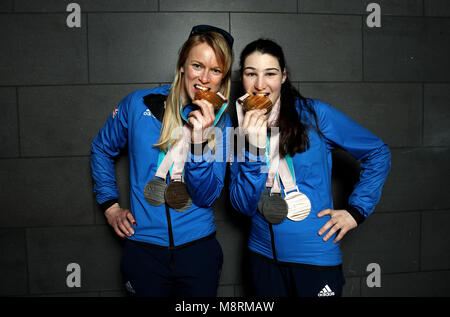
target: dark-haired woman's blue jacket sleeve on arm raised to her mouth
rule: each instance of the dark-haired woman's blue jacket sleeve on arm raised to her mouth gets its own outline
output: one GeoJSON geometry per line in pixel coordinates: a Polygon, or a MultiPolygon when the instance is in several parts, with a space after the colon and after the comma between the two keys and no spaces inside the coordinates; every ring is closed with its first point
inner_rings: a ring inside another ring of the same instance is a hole
{"type": "Polygon", "coordinates": [[[231,163],[230,201],[236,210],[251,217],[257,212],[259,197],[266,187],[268,166],[266,151],[258,153],[249,147],[250,151],[245,147],[237,150],[231,163]]]}

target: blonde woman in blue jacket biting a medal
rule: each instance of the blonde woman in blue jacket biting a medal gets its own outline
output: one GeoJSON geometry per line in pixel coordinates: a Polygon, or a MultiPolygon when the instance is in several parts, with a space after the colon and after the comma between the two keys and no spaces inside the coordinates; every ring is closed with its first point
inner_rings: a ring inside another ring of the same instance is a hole
{"type": "Polygon", "coordinates": [[[128,95],[92,143],[94,192],[115,233],[127,239],[121,266],[131,295],[216,296],[223,255],[211,205],[222,190],[226,160],[211,160],[210,146],[225,147],[231,120],[221,115],[226,102],[215,111],[195,96],[210,91],[228,98],[232,45],[228,32],[195,26],[173,83],[128,95]],[[213,126],[223,138],[206,133],[213,126]],[[126,145],[129,210],[119,205],[113,163],[126,145]],[[204,155],[194,155],[197,147],[204,155]]]}

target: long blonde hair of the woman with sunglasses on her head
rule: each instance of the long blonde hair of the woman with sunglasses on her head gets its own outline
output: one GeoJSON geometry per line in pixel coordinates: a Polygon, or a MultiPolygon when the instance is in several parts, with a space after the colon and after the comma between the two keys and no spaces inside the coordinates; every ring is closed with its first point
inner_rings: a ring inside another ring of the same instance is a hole
{"type": "Polygon", "coordinates": [[[178,62],[175,71],[175,78],[172,82],[169,95],[166,100],[166,109],[162,122],[161,134],[158,143],[155,146],[163,151],[167,151],[169,146],[177,141],[177,137],[173,136],[173,131],[181,131],[183,123],[181,121],[180,104],[181,104],[181,85],[183,74],[181,68],[186,62],[191,49],[200,44],[208,44],[216,54],[216,58],[225,74],[219,87],[219,92],[227,99],[230,95],[231,86],[231,66],[233,63],[233,52],[224,37],[217,32],[206,32],[203,34],[191,35],[181,47],[178,54],[178,62]]]}

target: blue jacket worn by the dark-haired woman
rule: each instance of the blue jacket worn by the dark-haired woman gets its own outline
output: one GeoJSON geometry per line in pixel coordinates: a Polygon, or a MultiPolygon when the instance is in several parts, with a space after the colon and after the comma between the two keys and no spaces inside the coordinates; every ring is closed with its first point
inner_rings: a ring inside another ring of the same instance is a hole
{"type": "Polygon", "coordinates": [[[349,209],[359,212],[356,218],[370,215],[379,201],[390,170],[390,151],[377,136],[330,105],[312,99],[308,102],[317,114],[323,136],[312,128],[311,113],[298,102],[301,121],[309,125],[310,147],[292,157],[297,186],[311,201],[308,217],[298,222],[285,219],[278,225],[270,225],[257,210],[267,179],[267,173],[261,173],[261,168],[267,164],[265,155],[250,161],[250,154],[245,152],[245,162],[232,163],[230,198],[234,208],[251,217],[250,250],[271,259],[275,255],[280,262],[334,266],[342,263],[340,243],[333,243],[336,234],[327,242],[322,240],[324,235],[319,236],[318,231],[330,216],[317,217],[320,211],[333,209],[331,150],[341,147],[361,161],[360,180],[348,201],[349,209]]]}

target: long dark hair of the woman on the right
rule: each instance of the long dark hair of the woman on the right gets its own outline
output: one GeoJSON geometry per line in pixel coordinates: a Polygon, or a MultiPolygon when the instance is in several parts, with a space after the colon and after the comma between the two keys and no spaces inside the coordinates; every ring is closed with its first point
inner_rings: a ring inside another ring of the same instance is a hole
{"type": "MultiPolygon", "coordinates": [[[[249,43],[241,53],[241,80],[243,78],[245,59],[253,52],[269,54],[275,57],[280,64],[282,72],[287,68],[283,49],[272,40],[258,39],[249,43]]],[[[308,99],[300,94],[300,92],[291,84],[289,76],[287,76],[286,80],[281,85],[281,109],[278,120],[278,126],[280,128],[280,155],[282,157],[287,154],[294,156],[295,153],[305,152],[309,148],[307,128],[301,122],[300,115],[295,107],[297,100],[300,102],[300,111],[309,111],[313,115],[317,130],[319,128],[316,113],[310,106],[308,99]]]]}

